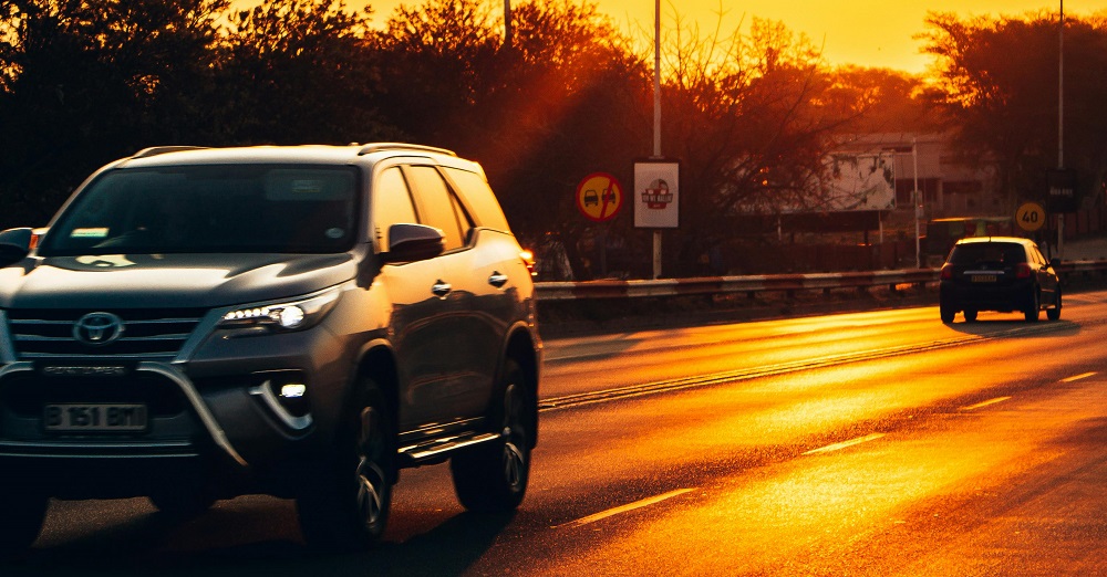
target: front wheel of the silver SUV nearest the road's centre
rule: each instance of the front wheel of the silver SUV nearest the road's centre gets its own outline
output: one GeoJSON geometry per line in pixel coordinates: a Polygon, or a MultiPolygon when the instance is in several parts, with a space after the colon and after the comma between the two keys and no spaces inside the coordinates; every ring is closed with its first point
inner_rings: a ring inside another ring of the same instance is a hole
{"type": "Polygon", "coordinates": [[[359,552],[384,534],[396,479],[395,434],[384,395],[364,379],[337,431],[334,451],[296,501],[309,546],[359,552]]]}

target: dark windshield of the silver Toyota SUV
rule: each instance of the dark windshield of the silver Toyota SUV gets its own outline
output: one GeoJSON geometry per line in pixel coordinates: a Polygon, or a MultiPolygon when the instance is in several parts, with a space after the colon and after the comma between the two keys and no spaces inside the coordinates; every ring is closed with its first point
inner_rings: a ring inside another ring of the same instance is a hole
{"type": "Polygon", "coordinates": [[[39,253],[332,253],[353,245],[353,167],[120,168],[86,187],[39,253]]]}

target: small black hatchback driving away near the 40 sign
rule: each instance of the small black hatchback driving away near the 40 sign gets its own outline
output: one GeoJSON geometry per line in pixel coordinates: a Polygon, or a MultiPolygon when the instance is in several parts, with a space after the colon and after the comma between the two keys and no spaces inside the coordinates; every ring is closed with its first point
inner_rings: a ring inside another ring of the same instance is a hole
{"type": "Polygon", "coordinates": [[[1016,237],[961,239],[942,265],[940,310],[943,323],[958,313],[976,321],[980,311],[1021,312],[1027,322],[1045,308],[1061,318],[1057,261],[1047,260],[1034,241],[1016,237]]]}

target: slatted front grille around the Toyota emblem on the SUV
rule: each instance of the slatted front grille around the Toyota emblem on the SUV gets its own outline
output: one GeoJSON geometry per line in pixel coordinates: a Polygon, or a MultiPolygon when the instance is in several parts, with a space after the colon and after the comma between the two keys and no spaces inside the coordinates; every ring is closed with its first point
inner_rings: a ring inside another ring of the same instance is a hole
{"type": "MultiPolygon", "coordinates": [[[[8,325],[21,360],[51,357],[165,359],[176,357],[206,311],[113,310],[123,332],[107,344],[89,344],[74,335],[87,310],[10,310],[8,325]]],[[[100,312],[100,311],[97,311],[100,312]]]]}

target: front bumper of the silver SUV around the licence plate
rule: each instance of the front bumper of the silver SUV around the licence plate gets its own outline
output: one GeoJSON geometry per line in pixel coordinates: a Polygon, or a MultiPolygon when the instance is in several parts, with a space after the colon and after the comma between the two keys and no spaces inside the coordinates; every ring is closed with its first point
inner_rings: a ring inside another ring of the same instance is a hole
{"type": "Polygon", "coordinates": [[[333,358],[341,349],[329,332],[307,331],[220,338],[187,363],[104,358],[0,366],[0,487],[63,499],[182,486],[225,497],[293,495],[324,445],[320,430],[328,429],[318,420],[329,418],[320,415],[334,412],[349,378],[333,358]],[[289,411],[268,386],[273,375],[290,373],[309,385],[307,413],[289,411]],[[49,403],[141,405],[147,426],[52,432],[44,426],[49,403]]]}

